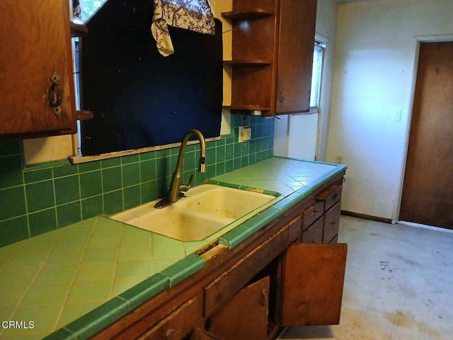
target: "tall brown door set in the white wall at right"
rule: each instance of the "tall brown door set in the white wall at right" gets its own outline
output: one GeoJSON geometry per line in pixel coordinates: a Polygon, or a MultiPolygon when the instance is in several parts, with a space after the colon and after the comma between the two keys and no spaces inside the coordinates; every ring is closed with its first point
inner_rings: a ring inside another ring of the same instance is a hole
{"type": "Polygon", "coordinates": [[[453,42],[420,45],[399,219],[453,229],[453,42]]]}

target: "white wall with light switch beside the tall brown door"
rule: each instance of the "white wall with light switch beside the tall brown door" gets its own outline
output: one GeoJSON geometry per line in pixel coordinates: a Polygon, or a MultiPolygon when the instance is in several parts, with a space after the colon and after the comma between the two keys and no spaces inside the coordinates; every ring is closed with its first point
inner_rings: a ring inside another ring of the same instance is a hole
{"type": "Polygon", "coordinates": [[[452,34],[453,0],[338,6],[327,160],[348,164],[343,210],[397,220],[418,40],[452,34]]]}

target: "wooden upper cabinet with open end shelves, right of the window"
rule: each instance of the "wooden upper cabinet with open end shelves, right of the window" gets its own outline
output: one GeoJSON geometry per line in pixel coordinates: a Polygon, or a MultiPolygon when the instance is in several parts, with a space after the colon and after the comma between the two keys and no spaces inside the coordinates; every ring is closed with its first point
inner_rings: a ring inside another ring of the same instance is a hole
{"type": "Polygon", "coordinates": [[[309,111],[316,0],[233,0],[231,110],[309,111]]]}

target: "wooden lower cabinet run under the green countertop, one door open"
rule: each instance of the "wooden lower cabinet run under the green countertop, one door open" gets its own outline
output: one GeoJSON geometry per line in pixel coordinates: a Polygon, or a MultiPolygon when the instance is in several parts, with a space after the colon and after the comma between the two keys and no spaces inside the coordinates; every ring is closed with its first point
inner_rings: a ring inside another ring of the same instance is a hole
{"type": "Polygon", "coordinates": [[[200,271],[93,339],[270,340],[285,326],[338,324],[348,249],[336,244],[342,179],[234,248],[203,252],[200,271]]]}

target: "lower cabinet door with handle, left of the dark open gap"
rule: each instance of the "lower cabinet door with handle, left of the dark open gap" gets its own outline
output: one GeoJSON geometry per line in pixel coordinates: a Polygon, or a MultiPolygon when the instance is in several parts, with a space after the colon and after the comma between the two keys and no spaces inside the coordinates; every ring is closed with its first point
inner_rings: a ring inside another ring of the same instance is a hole
{"type": "Polygon", "coordinates": [[[210,332],[224,340],[263,340],[268,334],[269,276],[239,290],[210,318],[210,332]]]}

